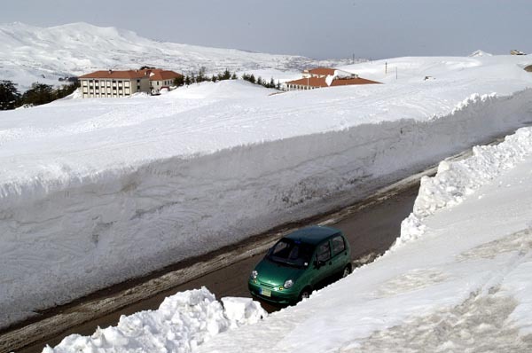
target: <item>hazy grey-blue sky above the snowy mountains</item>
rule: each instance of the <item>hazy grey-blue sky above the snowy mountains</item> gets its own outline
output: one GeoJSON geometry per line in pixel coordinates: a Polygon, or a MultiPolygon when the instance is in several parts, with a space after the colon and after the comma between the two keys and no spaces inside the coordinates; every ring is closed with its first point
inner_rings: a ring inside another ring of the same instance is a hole
{"type": "Polygon", "coordinates": [[[532,52],[532,0],[16,0],[0,23],[88,22],[160,41],[315,59],[532,52]]]}

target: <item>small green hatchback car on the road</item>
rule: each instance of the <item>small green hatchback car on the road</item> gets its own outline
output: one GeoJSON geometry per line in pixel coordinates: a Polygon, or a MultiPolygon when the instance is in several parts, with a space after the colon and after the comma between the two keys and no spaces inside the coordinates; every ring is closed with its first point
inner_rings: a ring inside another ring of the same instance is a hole
{"type": "Polygon", "coordinates": [[[351,272],[351,252],[341,231],[312,226],[293,231],[270,248],[247,282],[266,302],[293,304],[336,276],[351,272]]]}

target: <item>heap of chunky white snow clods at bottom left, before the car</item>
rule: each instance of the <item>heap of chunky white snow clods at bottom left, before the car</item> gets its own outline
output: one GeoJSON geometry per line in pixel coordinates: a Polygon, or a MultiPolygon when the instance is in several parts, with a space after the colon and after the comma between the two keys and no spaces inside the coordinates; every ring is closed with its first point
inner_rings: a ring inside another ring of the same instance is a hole
{"type": "Polygon", "coordinates": [[[252,325],[267,317],[247,298],[215,299],[205,287],[169,296],[158,310],[122,316],[117,326],[98,328],[90,337],[73,334],[43,353],[191,352],[217,333],[252,325]]]}

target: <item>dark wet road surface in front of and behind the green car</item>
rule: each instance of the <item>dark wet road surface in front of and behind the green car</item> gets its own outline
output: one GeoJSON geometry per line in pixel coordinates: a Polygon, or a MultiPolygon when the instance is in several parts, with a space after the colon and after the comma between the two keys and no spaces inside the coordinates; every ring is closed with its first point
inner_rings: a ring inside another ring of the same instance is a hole
{"type": "MultiPolygon", "coordinates": [[[[337,213],[317,217],[312,224],[327,224],[339,228],[349,239],[352,258],[355,263],[357,261],[368,262],[375,255],[382,254],[393,244],[400,233],[401,222],[411,213],[418,190],[418,182],[403,185],[390,192],[361,201],[337,213]]],[[[247,278],[250,271],[253,270],[254,264],[261,260],[264,253],[262,251],[221,270],[208,273],[183,285],[160,292],[160,294],[156,294],[150,299],[129,305],[122,310],[91,320],[81,326],[74,326],[53,338],[39,341],[27,346],[25,349],[17,349],[16,351],[21,353],[41,352],[45,344],[54,347],[69,334],[90,335],[95,332],[98,326],[115,326],[121,315],[129,315],[139,310],[157,309],[165,297],[187,289],[207,286],[217,298],[223,296],[250,296],[247,292],[247,278]]],[[[263,304],[263,306],[266,305],[263,304]]],[[[269,311],[276,310],[276,308],[270,306],[265,307],[265,309],[269,311]]]]}

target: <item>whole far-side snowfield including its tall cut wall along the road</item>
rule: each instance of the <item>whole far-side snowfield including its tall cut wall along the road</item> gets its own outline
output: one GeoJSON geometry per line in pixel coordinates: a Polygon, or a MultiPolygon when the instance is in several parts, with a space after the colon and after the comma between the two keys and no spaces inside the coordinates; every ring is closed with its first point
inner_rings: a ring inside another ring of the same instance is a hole
{"type": "Polygon", "coordinates": [[[526,57],[386,61],[397,75],[385,60],[343,67],[382,85],[206,82],[1,112],[0,326],[532,122],[526,57]]]}

